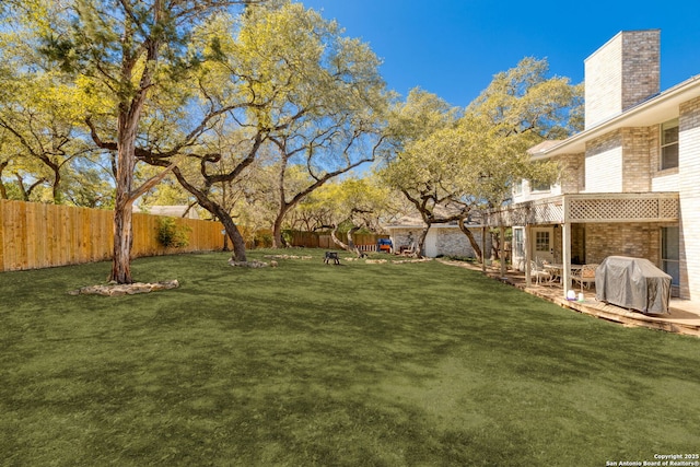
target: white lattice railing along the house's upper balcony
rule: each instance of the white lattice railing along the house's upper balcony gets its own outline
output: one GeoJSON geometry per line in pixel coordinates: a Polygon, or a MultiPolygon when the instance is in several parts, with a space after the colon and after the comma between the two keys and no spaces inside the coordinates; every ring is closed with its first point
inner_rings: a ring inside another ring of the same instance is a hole
{"type": "Polygon", "coordinates": [[[678,221],[679,213],[678,195],[674,192],[580,194],[522,202],[500,211],[490,211],[486,219],[490,226],[501,223],[536,225],[563,222],[675,222],[678,221]]]}

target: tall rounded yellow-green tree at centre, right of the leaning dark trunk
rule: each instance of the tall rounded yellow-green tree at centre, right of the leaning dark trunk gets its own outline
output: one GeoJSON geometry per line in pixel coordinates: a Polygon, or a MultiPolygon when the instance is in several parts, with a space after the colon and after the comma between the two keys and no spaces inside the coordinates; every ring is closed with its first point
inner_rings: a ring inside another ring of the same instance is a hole
{"type": "Polygon", "coordinates": [[[276,174],[269,205],[276,211],[275,242],[281,244],[280,227],[291,210],[332,178],[377,157],[387,93],[370,47],[301,3],[254,9],[236,46],[240,70],[250,70],[242,73],[249,77],[248,87],[271,104],[250,116],[269,129],[269,167],[276,174]]]}

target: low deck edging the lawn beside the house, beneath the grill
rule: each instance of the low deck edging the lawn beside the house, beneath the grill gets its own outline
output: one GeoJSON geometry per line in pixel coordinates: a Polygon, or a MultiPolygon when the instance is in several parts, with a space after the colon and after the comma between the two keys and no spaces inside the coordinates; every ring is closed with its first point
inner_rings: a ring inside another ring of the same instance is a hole
{"type": "MultiPolygon", "coordinates": [[[[441,262],[481,271],[479,266],[464,261],[441,260],[441,262]]],[[[645,327],[650,329],[700,337],[700,303],[697,302],[672,299],[668,314],[646,315],[634,310],[627,310],[620,306],[598,302],[595,299],[595,287],[593,285],[591,289],[584,289],[583,302],[571,302],[564,299],[563,290],[561,284],[558,282],[539,285],[533,283],[528,288],[525,284],[524,272],[508,271],[505,277],[501,277],[500,270],[487,269],[487,275],[495,280],[509,283],[527,293],[540,296],[565,308],[592,315],[600,319],[619,323],[625,326],[645,327]]],[[[574,290],[576,293],[580,292],[580,288],[575,288],[574,290]]]]}

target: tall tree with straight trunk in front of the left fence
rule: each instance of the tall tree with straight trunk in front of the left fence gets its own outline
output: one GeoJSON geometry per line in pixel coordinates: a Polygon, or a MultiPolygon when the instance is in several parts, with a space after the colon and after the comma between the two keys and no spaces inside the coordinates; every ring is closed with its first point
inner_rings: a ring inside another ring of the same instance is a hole
{"type": "Polygon", "coordinates": [[[62,71],[81,77],[88,93],[100,94],[109,103],[108,109],[98,109],[102,110],[98,118],[93,116],[88,121],[94,142],[115,154],[110,279],[116,282],[132,282],[129,255],[133,202],[165,175],[164,171],[136,186],[137,161],[154,155],[166,159],[180,153],[214,118],[214,115],[202,116],[199,124],[192,125],[184,138],[172,142],[167,150],[156,148],[153,151],[154,147],[144,141],[148,132],[141,126],[149,100],[209,59],[188,47],[194,28],[209,21],[214,13],[247,3],[254,1],[12,1],[18,14],[22,11],[27,13],[23,21],[38,37],[44,55],[62,71]]]}

